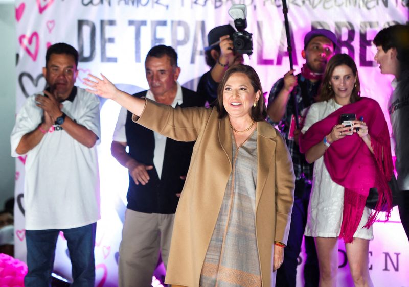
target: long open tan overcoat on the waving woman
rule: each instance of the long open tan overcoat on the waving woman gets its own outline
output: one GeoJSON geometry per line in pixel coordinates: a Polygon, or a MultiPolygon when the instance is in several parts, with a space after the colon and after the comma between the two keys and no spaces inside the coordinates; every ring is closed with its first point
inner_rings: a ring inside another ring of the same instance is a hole
{"type": "MultiPolygon", "coordinates": [[[[176,210],[166,283],[198,287],[200,272],[232,171],[228,117],[216,108],[175,108],[146,100],[138,124],[179,141],[196,140],[176,210]]],[[[256,234],[263,286],[272,284],[274,241],[287,242],[294,172],[285,141],[257,122],[256,234]]]]}

